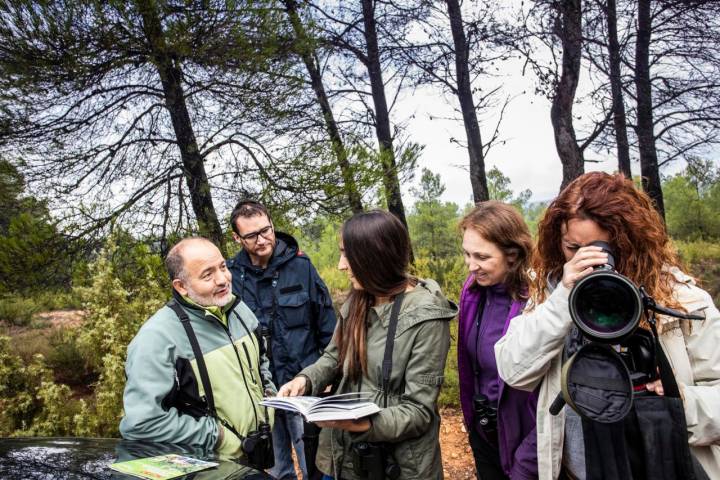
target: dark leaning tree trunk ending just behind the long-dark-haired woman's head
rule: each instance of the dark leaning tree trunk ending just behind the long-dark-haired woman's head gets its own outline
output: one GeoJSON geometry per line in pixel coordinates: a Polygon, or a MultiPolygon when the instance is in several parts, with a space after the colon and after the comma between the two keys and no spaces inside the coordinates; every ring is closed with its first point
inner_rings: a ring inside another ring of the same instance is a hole
{"type": "Polygon", "coordinates": [[[367,46],[367,70],[370,77],[373,104],[375,107],[375,133],[380,145],[380,161],[383,168],[383,187],[387,198],[388,210],[400,219],[407,228],[405,207],[400,192],[400,181],[395,163],[395,150],[392,143],[390,114],[385,98],[385,84],[380,68],[380,52],[375,25],[375,11],[372,0],[362,0],[363,23],[365,26],[365,44],[367,46]]]}

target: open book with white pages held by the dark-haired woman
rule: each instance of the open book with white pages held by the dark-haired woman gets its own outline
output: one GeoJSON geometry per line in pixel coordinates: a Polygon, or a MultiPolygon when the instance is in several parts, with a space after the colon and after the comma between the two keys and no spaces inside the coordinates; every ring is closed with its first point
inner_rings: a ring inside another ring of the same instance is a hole
{"type": "Polygon", "coordinates": [[[268,397],[260,402],[266,407],[300,413],[308,422],[357,420],[380,411],[366,392],[343,393],[329,397],[268,397]]]}

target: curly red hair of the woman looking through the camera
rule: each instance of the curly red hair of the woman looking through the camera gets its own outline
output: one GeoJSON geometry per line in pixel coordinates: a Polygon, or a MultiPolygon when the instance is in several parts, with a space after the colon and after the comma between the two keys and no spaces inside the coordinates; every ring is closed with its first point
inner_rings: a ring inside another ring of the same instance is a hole
{"type": "Polygon", "coordinates": [[[658,303],[680,307],[673,297],[674,278],[668,270],[679,267],[680,261],[652,200],[622,175],[604,172],[576,178],[540,221],[532,262],[536,276],[531,297],[536,305],[545,300],[548,279],[562,277],[562,230],[573,218],[592,220],[608,232],[618,272],[644,286],[658,303]]]}

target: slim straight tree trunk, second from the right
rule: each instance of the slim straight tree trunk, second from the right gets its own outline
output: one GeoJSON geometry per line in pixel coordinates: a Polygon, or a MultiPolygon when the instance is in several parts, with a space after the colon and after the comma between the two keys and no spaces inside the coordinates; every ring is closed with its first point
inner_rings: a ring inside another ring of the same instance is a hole
{"type": "Polygon", "coordinates": [[[622,94],[620,74],[620,43],[617,36],[617,6],[615,0],[607,0],[608,57],[610,61],[610,88],[612,91],[613,123],[618,152],[618,170],[626,178],[632,178],[630,170],[630,146],[627,138],[627,117],[622,94]]]}

